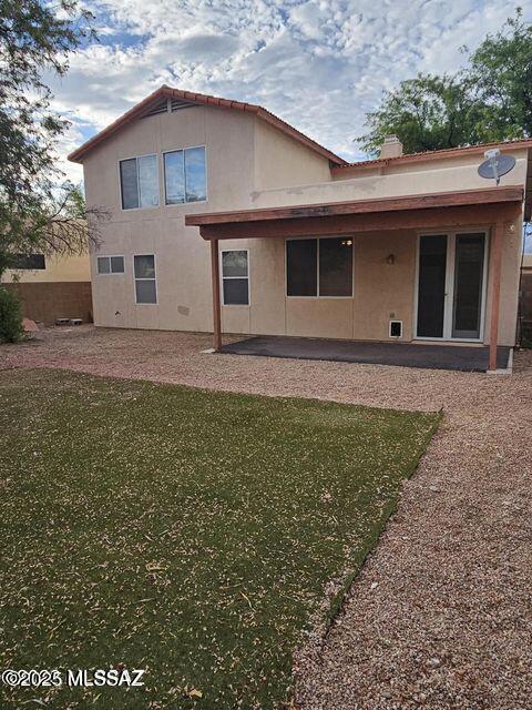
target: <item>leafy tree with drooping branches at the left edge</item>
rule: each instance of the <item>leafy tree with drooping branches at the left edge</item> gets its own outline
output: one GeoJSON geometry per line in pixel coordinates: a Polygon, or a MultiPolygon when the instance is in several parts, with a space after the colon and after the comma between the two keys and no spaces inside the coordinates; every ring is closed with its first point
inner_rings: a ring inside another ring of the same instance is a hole
{"type": "Polygon", "coordinates": [[[0,274],[14,254],[74,254],[99,242],[105,213],[63,182],[55,144],[68,122],[51,109],[42,75],[63,75],[93,37],[78,0],[0,0],[0,274]]]}

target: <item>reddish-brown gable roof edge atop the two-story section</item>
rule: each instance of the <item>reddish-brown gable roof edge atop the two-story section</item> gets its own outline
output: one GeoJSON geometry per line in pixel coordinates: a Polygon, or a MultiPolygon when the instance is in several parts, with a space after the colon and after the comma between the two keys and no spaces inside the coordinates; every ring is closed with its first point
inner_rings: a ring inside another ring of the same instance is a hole
{"type": "Polygon", "coordinates": [[[162,99],[171,99],[180,104],[180,108],[185,108],[186,105],[212,105],[217,106],[219,109],[233,109],[237,111],[247,111],[248,113],[254,113],[258,119],[269,123],[274,128],[283,131],[286,135],[289,135],[294,140],[298,141],[306,148],[319,153],[324,158],[327,158],[335,165],[347,165],[347,161],[336,155],[331,151],[327,150],[313,139],[308,138],[293,125],[289,125],[278,116],[274,115],[263,106],[256,105],[254,103],[244,103],[242,101],[233,101],[231,99],[221,99],[218,97],[211,97],[208,94],[203,93],[194,93],[192,91],[181,91],[180,89],[172,89],[166,84],[160,87],[156,91],[151,93],[149,97],[143,99],[140,103],[134,105],[132,109],[126,111],[123,115],[121,115],[116,121],[108,125],[103,131],[96,133],[93,138],[91,138],[86,143],[83,143],[75,151],[70,153],[69,160],[74,163],[81,163],[83,158],[96,145],[100,145],[108,138],[116,133],[122,126],[126,125],[131,121],[135,119],[142,118],[146,114],[150,114],[150,110],[154,109],[154,113],[157,113],[157,100],[161,102],[162,99]]]}

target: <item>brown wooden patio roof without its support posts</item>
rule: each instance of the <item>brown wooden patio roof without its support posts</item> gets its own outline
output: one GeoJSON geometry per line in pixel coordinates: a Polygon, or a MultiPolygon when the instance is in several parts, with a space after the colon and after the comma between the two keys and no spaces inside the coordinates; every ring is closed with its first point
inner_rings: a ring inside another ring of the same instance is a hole
{"type": "Polygon", "coordinates": [[[488,224],[521,209],[522,186],[187,214],[204,240],[488,224]]]}

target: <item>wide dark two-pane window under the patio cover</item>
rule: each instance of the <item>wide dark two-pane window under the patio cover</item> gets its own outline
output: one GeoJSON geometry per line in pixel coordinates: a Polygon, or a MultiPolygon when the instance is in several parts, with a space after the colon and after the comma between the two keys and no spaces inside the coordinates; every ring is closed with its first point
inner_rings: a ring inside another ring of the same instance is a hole
{"type": "Polygon", "coordinates": [[[352,296],[352,239],[286,241],[287,296],[352,296]]]}

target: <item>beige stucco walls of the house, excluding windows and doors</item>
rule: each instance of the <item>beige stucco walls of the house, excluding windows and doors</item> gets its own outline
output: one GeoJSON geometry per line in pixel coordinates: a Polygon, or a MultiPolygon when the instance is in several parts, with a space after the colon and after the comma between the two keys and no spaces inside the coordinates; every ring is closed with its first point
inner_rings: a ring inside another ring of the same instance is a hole
{"type": "MultiPolygon", "coordinates": [[[[514,154],[515,169],[502,184],[525,182],[526,151],[514,154]]],[[[112,212],[99,254],[125,260],[124,274],[98,275],[92,255],[94,321],[102,326],[212,329],[209,247],[196,227],[185,227],[185,214],[484,187],[478,162],[478,156],[433,160],[356,175],[347,172],[340,180],[331,175],[326,158],[245,112],[195,106],[140,119],[95,148],[84,162],[89,204],[112,212]],[[119,160],[156,153],[164,202],[162,153],[195,145],[206,145],[206,202],[121,209],[119,160]],[[155,254],[157,304],[135,304],[134,254],[155,254]]],[[[355,285],[349,298],[286,297],[284,240],[228,240],[221,248],[249,251],[250,305],[223,306],[224,332],[387,341],[389,320],[395,318],[403,322],[402,341],[415,336],[416,232],[354,235],[355,285]],[[389,254],[395,255],[393,264],[386,261],[389,254]]],[[[504,235],[500,342],[508,345],[514,342],[520,251],[516,220],[514,231],[508,229],[504,235]]]]}

